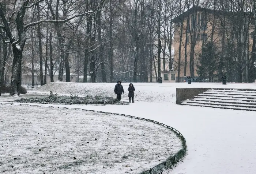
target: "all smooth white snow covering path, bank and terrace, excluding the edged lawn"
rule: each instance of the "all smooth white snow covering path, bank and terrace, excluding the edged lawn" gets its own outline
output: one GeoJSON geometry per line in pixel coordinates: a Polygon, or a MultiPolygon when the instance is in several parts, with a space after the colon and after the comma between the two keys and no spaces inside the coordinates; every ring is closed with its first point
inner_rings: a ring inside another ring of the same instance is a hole
{"type": "MultiPolygon", "coordinates": [[[[122,83],[123,84],[123,83],[122,83]]],[[[50,83],[37,91],[114,96],[114,83],[50,83]],[[87,93],[88,92],[88,93],[87,93]]],[[[124,83],[128,88],[129,83],[124,83]]],[[[73,106],[154,119],[179,130],[188,155],[173,174],[256,173],[256,112],[175,104],[176,88],[248,88],[255,83],[134,83],[135,103],[128,106],[73,106]],[[138,100],[143,102],[138,102],[138,100]]],[[[128,99],[128,92],[122,99],[128,99]]]]}

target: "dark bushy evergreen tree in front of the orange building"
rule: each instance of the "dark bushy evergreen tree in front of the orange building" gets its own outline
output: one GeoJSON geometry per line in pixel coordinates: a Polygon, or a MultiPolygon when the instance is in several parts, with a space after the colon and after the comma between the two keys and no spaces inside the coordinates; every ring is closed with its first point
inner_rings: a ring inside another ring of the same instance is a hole
{"type": "Polygon", "coordinates": [[[202,54],[199,55],[199,64],[197,64],[197,74],[200,78],[208,78],[212,82],[214,72],[218,69],[219,52],[216,45],[208,41],[202,48],[202,54]]]}

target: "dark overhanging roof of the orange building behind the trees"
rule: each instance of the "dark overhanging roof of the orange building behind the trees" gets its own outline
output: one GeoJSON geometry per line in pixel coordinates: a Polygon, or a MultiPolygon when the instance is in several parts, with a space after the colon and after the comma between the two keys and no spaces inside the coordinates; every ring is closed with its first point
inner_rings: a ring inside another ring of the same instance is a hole
{"type": "MultiPolygon", "coordinates": [[[[190,9],[188,9],[187,11],[185,11],[184,13],[182,13],[181,15],[174,17],[172,21],[174,23],[181,22],[188,15],[194,14],[195,12],[199,12],[199,11],[206,12],[206,13],[212,13],[215,15],[236,15],[237,13],[243,13],[244,15],[246,14],[246,12],[227,12],[227,11],[219,11],[219,10],[213,10],[213,9],[209,9],[209,8],[202,8],[202,7],[194,6],[190,9]]],[[[249,13],[248,13],[248,15],[249,15],[249,13]]]]}

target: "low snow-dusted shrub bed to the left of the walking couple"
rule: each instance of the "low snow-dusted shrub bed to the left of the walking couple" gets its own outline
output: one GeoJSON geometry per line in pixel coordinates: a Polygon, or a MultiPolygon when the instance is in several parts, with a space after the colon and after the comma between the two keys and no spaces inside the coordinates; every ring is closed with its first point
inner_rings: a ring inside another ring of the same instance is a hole
{"type": "Polygon", "coordinates": [[[71,96],[57,96],[53,95],[50,91],[50,95],[44,98],[22,98],[15,100],[16,102],[31,102],[31,103],[71,103],[71,104],[114,104],[118,103],[118,100],[112,97],[106,96],[85,96],[79,97],[77,95],[71,96]]]}

